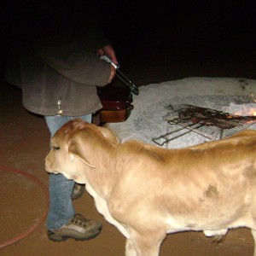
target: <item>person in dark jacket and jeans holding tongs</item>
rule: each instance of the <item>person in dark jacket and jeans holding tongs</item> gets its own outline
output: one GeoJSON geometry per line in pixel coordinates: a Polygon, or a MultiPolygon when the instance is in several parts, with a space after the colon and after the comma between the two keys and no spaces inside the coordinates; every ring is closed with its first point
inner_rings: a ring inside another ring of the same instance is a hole
{"type": "MultiPolygon", "coordinates": [[[[118,63],[112,44],[97,25],[94,1],[26,1],[10,41],[6,80],[22,90],[24,107],[43,115],[51,137],[73,118],[91,122],[102,108],[96,86],[113,80],[118,63]],[[27,4],[27,6],[26,6],[27,4]]],[[[102,224],[76,213],[72,204],[83,187],[61,174],[49,175],[48,237],[87,240],[102,224]]]]}

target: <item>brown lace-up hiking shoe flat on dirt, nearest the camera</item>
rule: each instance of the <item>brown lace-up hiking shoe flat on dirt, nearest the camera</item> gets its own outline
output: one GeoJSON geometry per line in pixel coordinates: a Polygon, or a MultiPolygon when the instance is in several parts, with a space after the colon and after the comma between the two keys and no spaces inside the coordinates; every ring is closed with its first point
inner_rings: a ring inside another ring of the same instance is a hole
{"type": "Polygon", "coordinates": [[[101,223],[84,218],[77,213],[60,229],[48,230],[48,238],[52,241],[65,241],[68,238],[84,241],[96,237],[101,230],[101,223]]]}

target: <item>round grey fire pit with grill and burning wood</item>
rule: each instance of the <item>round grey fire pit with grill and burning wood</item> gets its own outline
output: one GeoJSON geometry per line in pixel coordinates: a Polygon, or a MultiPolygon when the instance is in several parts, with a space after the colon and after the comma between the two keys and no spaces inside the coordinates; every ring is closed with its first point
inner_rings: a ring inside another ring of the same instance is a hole
{"type": "Polygon", "coordinates": [[[108,127],[121,141],[139,139],[183,148],[255,129],[253,114],[244,112],[256,109],[254,98],[256,81],[248,79],[190,78],[149,84],[134,96],[130,118],[108,127]]]}

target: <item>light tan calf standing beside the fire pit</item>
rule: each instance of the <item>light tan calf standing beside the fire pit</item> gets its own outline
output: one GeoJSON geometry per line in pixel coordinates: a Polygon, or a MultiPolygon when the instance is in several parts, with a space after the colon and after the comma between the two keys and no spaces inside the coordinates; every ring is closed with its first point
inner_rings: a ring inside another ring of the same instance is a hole
{"type": "Polygon", "coordinates": [[[126,237],[125,255],[159,255],[166,234],[183,230],[224,236],[247,227],[256,239],[256,131],[165,149],[119,143],[107,128],[73,119],[51,147],[46,170],[86,183],[97,210],[126,237]]]}

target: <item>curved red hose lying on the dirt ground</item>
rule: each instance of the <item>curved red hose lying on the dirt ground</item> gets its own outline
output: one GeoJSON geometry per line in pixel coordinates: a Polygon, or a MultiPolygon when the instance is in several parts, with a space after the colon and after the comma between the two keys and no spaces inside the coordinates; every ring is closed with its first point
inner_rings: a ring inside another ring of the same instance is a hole
{"type": "Polygon", "coordinates": [[[7,172],[15,172],[17,174],[21,174],[25,177],[28,177],[29,179],[31,179],[34,183],[37,183],[38,186],[43,190],[44,195],[45,195],[45,201],[47,204],[46,210],[44,212],[44,214],[42,215],[41,218],[39,218],[38,223],[33,224],[28,230],[24,231],[23,233],[21,233],[19,236],[14,237],[13,239],[10,239],[8,241],[4,241],[2,244],[0,244],[0,249],[3,247],[7,247],[13,243],[15,243],[16,241],[20,241],[22,238],[28,236],[30,233],[32,233],[33,230],[36,230],[36,228],[38,228],[38,226],[40,224],[42,224],[42,222],[44,221],[44,219],[47,216],[47,212],[48,212],[48,207],[49,207],[49,193],[48,193],[48,189],[44,186],[43,183],[41,183],[40,180],[38,180],[37,177],[32,176],[31,174],[28,174],[26,172],[22,172],[20,170],[16,170],[13,168],[9,168],[9,167],[5,167],[5,166],[0,166],[0,170],[3,171],[7,171],[7,172]]]}

